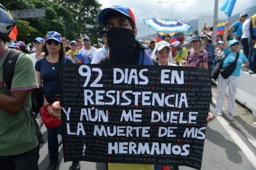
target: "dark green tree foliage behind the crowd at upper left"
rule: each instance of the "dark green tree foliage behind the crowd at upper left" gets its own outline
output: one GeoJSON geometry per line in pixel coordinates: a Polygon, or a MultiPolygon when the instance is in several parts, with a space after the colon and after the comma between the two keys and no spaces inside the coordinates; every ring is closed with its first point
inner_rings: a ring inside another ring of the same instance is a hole
{"type": "Polygon", "coordinates": [[[84,35],[97,43],[103,28],[97,22],[99,4],[96,0],[1,0],[6,9],[45,9],[46,17],[15,20],[17,40],[26,43],[35,37],[45,37],[48,31],[59,32],[62,37],[77,40],[84,35]]]}

